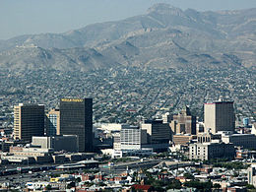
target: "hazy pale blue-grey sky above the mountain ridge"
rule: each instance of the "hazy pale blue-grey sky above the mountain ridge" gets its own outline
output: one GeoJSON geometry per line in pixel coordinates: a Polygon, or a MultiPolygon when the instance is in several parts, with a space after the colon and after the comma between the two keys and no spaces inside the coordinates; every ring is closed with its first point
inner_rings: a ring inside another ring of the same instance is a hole
{"type": "Polygon", "coordinates": [[[125,19],[156,3],[198,11],[256,8],[256,0],[0,0],[0,39],[125,19]]]}

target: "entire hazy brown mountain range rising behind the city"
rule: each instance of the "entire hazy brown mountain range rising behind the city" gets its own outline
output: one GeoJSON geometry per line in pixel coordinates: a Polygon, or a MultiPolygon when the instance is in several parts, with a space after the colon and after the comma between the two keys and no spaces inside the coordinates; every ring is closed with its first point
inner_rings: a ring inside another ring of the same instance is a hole
{"type": "Polygon", "coordinates": [[[64,33],[0,41],[10,70],[256,68],[256,9],[198,12],[157,4],[146,14],[64,33]]]}

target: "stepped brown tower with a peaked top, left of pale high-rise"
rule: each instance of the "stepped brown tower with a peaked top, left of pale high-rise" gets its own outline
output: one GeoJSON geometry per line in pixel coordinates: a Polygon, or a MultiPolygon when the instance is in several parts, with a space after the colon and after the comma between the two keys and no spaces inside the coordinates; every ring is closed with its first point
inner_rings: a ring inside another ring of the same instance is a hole
{"type": "Polygon", "coordinates": [[[193,116],[188,106],[185,106],[181,112],[173,115],[170,124],[173,134],[196,134],[196,116],[193,116]]]}

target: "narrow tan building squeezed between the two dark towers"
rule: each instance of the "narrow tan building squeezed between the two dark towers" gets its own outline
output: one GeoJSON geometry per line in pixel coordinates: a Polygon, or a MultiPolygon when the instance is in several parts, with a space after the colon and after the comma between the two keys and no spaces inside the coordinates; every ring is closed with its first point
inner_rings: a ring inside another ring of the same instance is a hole
{"type": "Polygon", "coordinates": [[[46,114],[46,135],[60,135],[60,112],[59,109],[51,109],[46,114]]]}

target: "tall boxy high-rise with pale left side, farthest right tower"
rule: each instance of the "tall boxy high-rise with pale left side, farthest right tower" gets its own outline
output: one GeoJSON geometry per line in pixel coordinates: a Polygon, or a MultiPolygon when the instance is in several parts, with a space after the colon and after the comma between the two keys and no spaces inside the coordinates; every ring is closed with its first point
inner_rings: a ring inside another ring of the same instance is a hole
{"type": "Polygon", "coordinates": [[[234,131],[235,126],[233,101],[219,101],[205,103],[205,130],[212,133],[218,131],[234,131]]]}

